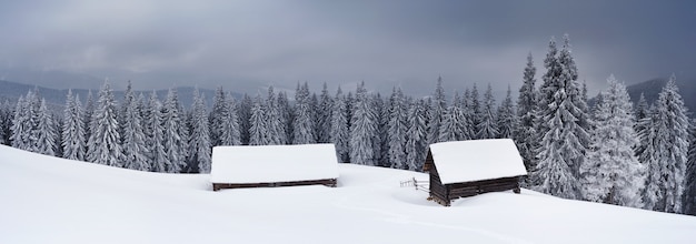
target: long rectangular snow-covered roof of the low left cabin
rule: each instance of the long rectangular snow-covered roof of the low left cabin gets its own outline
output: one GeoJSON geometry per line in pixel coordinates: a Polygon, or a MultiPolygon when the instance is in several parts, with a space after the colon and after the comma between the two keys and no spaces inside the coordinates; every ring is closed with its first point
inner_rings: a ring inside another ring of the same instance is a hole
{"type": "Polygon", "coordinates": [[[338,177],[334,144],[212,148],[212,183],[272,183],[338,177]]]}

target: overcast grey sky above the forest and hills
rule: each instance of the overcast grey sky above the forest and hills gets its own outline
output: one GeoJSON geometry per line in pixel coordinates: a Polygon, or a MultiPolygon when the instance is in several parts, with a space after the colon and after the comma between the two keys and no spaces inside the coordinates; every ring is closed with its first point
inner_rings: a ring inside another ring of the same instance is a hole
{"type": "Polygon", "coordinates": [[[242,92],[298,81],[352,90],[364,80],[421,95],[441,74],[450,90],[501,92],[519,88],[529,52],[540,78],[549,38],[569,33],[594,93],[610,73],[627,83],[696,78],[694,2],[3,0],[0,78],[242,92]],[[44,75],[22,75],[37,71],[44,75]]]}

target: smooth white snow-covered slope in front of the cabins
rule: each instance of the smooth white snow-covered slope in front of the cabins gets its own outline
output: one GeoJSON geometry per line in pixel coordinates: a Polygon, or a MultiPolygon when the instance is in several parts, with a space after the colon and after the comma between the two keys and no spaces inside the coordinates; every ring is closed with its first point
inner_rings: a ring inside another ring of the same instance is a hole
{"type": "Polygon", "coordinates": [[[0,243],[689,243],[696,217],[531,191],[451,207],[340,165],[339,187],[210,191],[209,175],[113,169],[0,146],[0,243]]]}

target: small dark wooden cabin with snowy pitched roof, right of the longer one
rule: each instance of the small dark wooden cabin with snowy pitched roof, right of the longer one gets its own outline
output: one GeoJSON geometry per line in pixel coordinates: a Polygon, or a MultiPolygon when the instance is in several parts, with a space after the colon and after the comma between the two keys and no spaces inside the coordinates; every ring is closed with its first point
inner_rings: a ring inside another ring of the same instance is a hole
{"type": "Polygon", "coordinates": [[[445,206],[458,197],[487,192],[519,193],[519,177],[527,175],[510,139],[431,144],[424,171],[430,174],[430,199],[445,206]]]}

